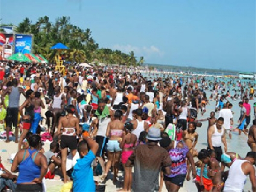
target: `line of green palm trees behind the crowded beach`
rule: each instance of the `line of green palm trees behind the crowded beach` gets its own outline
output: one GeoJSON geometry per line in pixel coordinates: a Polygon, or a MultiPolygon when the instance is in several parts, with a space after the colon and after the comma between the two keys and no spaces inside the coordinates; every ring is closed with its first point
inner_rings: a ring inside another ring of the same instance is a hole
{"type": "MultiPolygon", "coordinates": [[[[5,24],[2,24],[4,26],[5,24]]],[[[9,24],[9,26],[13,26],[9,24]]],[[[61,55],[72,63],[105,63],[127,66],[138,66],[144,63],[144,58],[109,48],[99,48],[92,37],[90,29],[81,29],[70,23],[70,17],[58,17],[55,23],[49,17],[39,17],[35,23],[25,18],[14,28],[16,33],[33,34],[33,53],[41,54],[50,62],[54,62],[56,50],[50,48],[56,43],[63,43],[70,49],[62,50],[61,55]]]]}

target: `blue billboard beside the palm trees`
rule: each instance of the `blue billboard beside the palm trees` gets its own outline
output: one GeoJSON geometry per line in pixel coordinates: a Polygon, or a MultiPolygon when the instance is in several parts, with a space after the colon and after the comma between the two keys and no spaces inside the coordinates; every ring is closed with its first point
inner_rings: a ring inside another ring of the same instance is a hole
{"type": "Polygon", "coordinates": [[[31,53],[32,35],[30,34],[15,34],[14,53],[31,53]]]}

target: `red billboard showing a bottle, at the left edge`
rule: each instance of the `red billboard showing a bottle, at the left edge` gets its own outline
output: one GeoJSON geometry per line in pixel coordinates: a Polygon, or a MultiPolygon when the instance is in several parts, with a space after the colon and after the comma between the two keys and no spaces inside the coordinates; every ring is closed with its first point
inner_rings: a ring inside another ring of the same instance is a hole
{"type": "Polygon", "coordinates": [[[5,60],[13,52],[13,34],[0,33],[0,59],[5,60]]]}

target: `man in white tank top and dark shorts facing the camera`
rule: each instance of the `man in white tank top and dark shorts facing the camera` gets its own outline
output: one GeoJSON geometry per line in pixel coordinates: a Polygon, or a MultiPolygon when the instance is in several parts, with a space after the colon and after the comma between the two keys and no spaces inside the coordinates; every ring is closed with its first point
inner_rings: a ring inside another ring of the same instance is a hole
{"type": "Polygon", "coordinates": [[[224,150],[227,152],[227,142],[223,124],[224,118],[219,117],[215,125],[210,126],[207,131],[208,146],[210,149],[215,151],[218,162],[221,162],[221,155],[223,153],[221,143],[224,144],[224,150]]]}

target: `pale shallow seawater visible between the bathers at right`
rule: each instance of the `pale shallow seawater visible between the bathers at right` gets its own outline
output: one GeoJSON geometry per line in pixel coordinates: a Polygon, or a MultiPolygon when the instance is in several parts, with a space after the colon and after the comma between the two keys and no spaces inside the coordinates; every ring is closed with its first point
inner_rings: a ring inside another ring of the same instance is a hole
{"type": "MultiPolygon", "coordinates": [[[[154,79],[154,78],[157,78],[157,77],[164,77],[163,74],[162,74],[162,76],[161,76],[161,74],[157,75],[157,74],[152,74],[152,73],[151,74],[144,73],[142,75],[144,77],[145,76],[148,77],[148,79],[154,79]]],[[[169,75],[169,77],[176,77],[176,75],[169,75]]],[[[188,76],[188,77],[191,78],[192,76],[188,76]]],[[[205,78],[206,78],[207,81],[212,81],[212,82],[214,80],[216,80],[215,77],[205,77],[205,78]]],[[[228,81],[231,81],[233,83],[236,83],[237,80],[240,80],[240,79],[218,78],[217,82],[227,83],[228,81]]],[[[246,84],[250,82],[254,85],[254,89],[256,89],[256,86],[255,86],[256,81],[255,80],[240,80],[240,81],[241,81],[241,83],[245,82],[246,84]]],[[[248,86],[246,88],[248,88],[248,86]]],[[[233,89],[234,88],[231,87],[231,89],[229,91],[231,95],[234,94],[233,89]]],[[[238,90],[239,88],[236,86],[235,89],[238,90]]],[[[224,94],[227,92],[227,90],[228,89],[226,88],[226,91],[224,91],[224,94]]],[[[205,92],[206,92],[206,95],[207,95],[208,98],[212,94],[212,91],[210,91],[210,90],[206,90],[205,92]]],[[[221,94],[220,91],[218,93],[221,94]]],[[[240,94],[241,92],[238,91],[237,93],[240,94]]],[[[229,100],[230,103],[233,104],[233,108],[232,108],[232,111],[234,112],[234,114],[233,114],[233,120],[234,120],[233,128],[236,128],[239,125],[239,123],[237,121],[240,117],[240,109],[241,108],[239,107],[238,103],[241,100],[233,101],[233,100],[231,100],[231,98],[227,98],[227,100],[229,100]]],[[[253,109],[253,103],[254,102],[256,102],[255,98],[254,98],[254,100],[249,100],[249,103],[251,105],[251,113],[250,113],[251,121],[250,121],[249,127],[252,125],[252,120],[254,118],[254,109],[253,109]]],[[[206,106],[206,113],[204,113],[204,116],[202,116],[201,113],[199,113],[198,114],[198,119],[203,119],[203,118],[209,117],[210,112],[215,111],[215,106],[216,106],[216,101],[209,101],[209,105],[206,106]]],[[[215,117],[218,118],[218,112],[216,113],[215,117]]],[[[203,124],[202,127],[198,127],[196,129],[196,132],[198,132],[199,137],[198,137],[198,143],[197,143],[195,149],[197,149],[198,151],[200,151],[201,149],[205,149],[207,147],[208,121],[204,121],[204,122],[202,122],[202,124],[203,124]]],[[[246,156],[247,152],[250,151],[250,147],[247,145],[247,136],[244,135],[244,133],[242,133],[241,135],[238,135],[238,132],[233,131],[232,132],[232,139],[230,140],[228,135],[226,135],[226,139],[227,139],[227,148],[228,148],[227,151],[228,152],[236,152],[242,158],[244,158],[246,156]]],[[[223,146],[223,151],[224,151],[224,146],[223,146]]],[[[197,158],[195,158],[195,161],[196,160],[197,160],[197,158]]],[[[193,183],[192,180],[185,181],[184,187],[186,188],[186,191],[188,191],[188,192],[197,191],[195,183],[193,183]]],[[[247,181],[246,181],[246,184],[244,186],[244,191],[248,191],[248,190],[251,190],[251,183],[250,183],[249,177],[247,177],[247,181]]]]}

